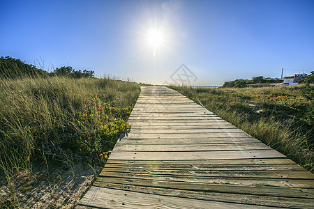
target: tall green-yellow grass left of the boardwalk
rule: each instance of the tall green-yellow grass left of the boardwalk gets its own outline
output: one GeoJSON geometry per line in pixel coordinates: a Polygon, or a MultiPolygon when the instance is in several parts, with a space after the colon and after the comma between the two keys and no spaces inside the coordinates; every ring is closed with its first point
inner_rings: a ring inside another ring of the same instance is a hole
{"type": "MultiPolygon", "coordinates": [[[[19,206],[12,176],[33,164],[72,159],[102,164],[126,123],[140,86],[113,79],[0,79],[0,169],[19,206]],[[70,157],[70,158],[69,158],[70,157]]],[[[1,174],[2,175],[2,174],[1,174]]]]}

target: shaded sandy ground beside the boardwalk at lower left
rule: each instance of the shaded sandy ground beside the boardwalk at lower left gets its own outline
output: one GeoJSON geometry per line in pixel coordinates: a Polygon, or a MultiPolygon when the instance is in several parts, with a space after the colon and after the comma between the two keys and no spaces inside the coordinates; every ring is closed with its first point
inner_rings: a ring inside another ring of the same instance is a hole
{"type": "MultiPolygon", "coordinates": [[[[96,169],[96,173],[100,168],[96,169]]],[[[14,178],[20,208],[74,208],[96,179],[94,169],[87,164],[75,163],[74,168],[61,163],[33,169],[33,175],[19,173],[14,178]],[[49,173],[49,174],[47,174],[49,173]]],[[[6,179],[1,176],[1,207],[8,206],[3,200],[8,196],[6,179]]]]}

